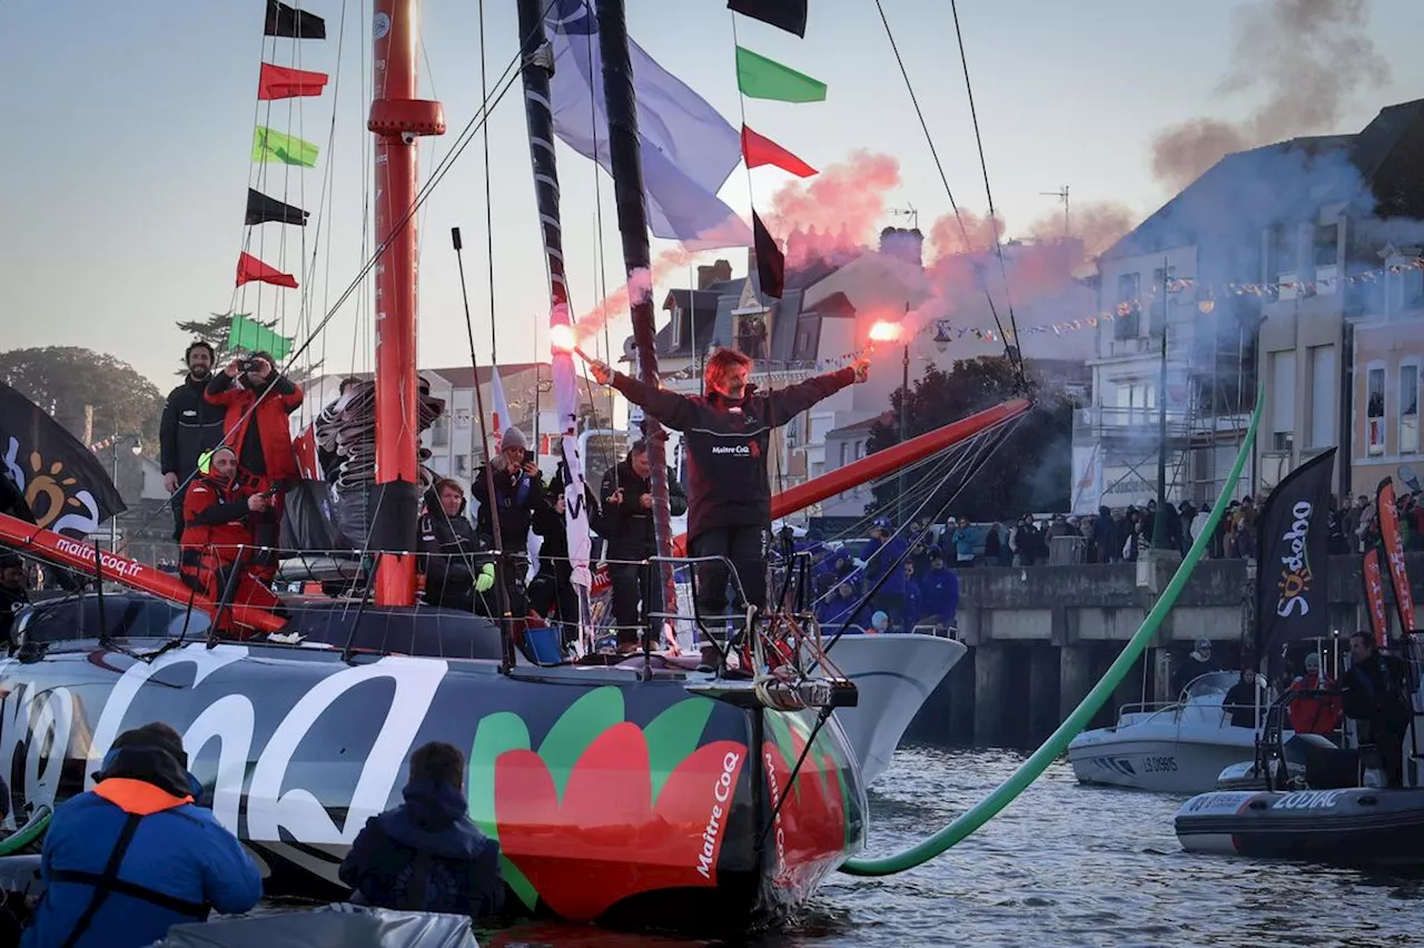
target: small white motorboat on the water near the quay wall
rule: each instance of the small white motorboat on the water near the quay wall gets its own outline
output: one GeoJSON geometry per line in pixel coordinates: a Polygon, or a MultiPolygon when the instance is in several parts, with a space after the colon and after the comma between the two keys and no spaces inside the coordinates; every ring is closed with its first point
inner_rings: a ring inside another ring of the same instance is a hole
{"type": "MultiPolygon", "coordinates": [[[[1085,730],[1068,744],[1081,783],[1206,793],[1220,773],[1256,756],[1256,729],[1236,727],[1222,702],[1237,672],[1193,679],[1169,705],[1124,705],[1111,727],[1085,730]]],[[[1265,716],[1265,707],[1260,710],[1265,716]]]]}

